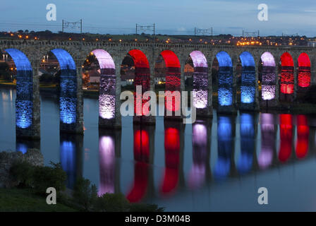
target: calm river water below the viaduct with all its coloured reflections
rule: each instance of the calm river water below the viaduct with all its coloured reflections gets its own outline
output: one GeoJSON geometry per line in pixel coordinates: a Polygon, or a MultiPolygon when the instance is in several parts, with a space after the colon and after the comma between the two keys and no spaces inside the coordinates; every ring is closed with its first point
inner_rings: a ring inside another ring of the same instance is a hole
{"type": "Polygon", "coordinates": [[[83,176],[99,194],[122,192],[167,211],[316,210],[316,117],[238,112],[195,124],[99,131],[98,100],[84,99],[84,136],[59,133],[58,99],[41,95],[41,142],[16,141],[16,91],[0,89],[0,150],[40,147],[61,162],[68,187],[83,176]],[[267,188],[268,204],[258,204],[267,188]]]}

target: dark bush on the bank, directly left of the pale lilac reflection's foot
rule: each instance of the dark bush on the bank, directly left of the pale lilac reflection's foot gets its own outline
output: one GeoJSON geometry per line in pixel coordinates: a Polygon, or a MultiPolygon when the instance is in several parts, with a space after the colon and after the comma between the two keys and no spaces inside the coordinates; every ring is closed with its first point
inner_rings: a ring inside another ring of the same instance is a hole
{"type": "Polygon", "coordinates": [[[75,203],[83,206],[85,211],[89,211],[97,199],[97,186],[90,185],[89,179],[80,177],[75,182],[73,198],[75,203]]]}

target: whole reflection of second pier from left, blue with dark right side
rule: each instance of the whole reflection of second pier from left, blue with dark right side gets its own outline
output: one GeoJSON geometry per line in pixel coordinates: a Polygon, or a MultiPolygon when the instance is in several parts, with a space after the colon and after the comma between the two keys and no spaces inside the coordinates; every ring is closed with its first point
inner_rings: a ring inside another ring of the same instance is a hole
{"type": "Polygon", "coordinates": [[[69,133],[60,134],[61,167],[66,171],[67,184],[73,189],[75,181],[83,177],[83,136],[69,133]]]}

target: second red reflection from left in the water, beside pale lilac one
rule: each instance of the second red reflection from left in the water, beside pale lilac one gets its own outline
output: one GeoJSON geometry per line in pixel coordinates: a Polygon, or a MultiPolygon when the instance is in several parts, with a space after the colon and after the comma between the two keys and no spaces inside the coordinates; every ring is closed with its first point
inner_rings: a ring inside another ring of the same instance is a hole
{"type": "Polygon", "coordinates": [[[160,191],[164,194],[170,194],[175,191],[179,177],[180,134],[178,129],[168,128],[165,130],[164,150],[166,169],[160,191]]]}

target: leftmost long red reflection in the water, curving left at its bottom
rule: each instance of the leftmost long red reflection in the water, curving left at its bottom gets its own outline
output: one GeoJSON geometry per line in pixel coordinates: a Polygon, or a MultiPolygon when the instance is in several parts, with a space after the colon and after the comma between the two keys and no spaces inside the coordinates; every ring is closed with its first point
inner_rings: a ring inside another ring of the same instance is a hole
{"type": "Polygon", "coordinates": [[[150,138],[145,130],[134,131],[134,184],[126,198],[131,203],[145,196],[148,186],[148,162],[150,160],[150,138]]]}

